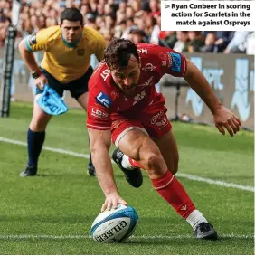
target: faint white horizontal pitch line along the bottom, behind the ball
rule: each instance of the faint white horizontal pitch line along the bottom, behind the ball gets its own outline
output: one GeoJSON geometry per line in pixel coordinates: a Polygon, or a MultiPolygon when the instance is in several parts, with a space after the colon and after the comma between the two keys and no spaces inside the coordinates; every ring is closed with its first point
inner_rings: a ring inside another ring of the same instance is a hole
{"type": "MultiPolygon", "coordinates": [[[[254,235],[245,234],[220,234],[220,238],[235,238],[235,239],[254,239],[254,235]]],[[[0,235],[0,240],[25,240],[25,239],[49,239],[49,240],[63,240],[63,239],[92,239],[90,235],[51,235],[51,234],[2,234],[0,235]]],[[[184,240],[184,239],[194,239],[193,235],[175,235],[175,236],[165,236],[165,235],[135,235],[131,236],[129,240],[184,240]]]]}

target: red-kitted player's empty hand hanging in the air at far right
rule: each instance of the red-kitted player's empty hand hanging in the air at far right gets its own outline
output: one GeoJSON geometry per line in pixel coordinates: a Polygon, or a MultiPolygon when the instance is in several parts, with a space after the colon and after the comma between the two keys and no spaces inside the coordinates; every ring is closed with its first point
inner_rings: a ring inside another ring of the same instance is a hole
{"type": "Polygon", "coordinates": [[[231,136],[234,136],[234,134],[236,134],[240,130],[240,119],[235,116],[230,109],[227,109],[223,106],[217,109],[216,113],[213,115],[213,119],[215,127],[218,128],[222,135],[225,135],[224,128],[228,130],[231,136]]]}

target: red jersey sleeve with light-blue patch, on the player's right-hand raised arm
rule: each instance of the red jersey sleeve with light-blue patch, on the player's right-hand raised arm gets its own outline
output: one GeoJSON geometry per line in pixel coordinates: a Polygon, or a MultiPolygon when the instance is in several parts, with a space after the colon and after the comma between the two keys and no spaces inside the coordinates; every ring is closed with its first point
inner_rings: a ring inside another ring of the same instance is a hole
{"type": "Polygon", "coordinates": [[[170,74],[175,77],[184,76],[187,63],[183,54],[165,47],[158,47],[156,52],[158,66],[163,74],[170,74]]]}

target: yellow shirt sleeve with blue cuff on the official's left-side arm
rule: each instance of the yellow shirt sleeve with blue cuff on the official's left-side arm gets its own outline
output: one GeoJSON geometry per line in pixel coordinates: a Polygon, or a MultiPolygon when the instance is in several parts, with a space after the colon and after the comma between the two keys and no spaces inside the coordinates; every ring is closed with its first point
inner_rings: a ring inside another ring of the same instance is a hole
{"type": "Polygon", "coordinates": [[[47,29],[42,29],[37,33],[25,37],[25,46],[29,52],[46,51],[49,33],[47,29]]]}

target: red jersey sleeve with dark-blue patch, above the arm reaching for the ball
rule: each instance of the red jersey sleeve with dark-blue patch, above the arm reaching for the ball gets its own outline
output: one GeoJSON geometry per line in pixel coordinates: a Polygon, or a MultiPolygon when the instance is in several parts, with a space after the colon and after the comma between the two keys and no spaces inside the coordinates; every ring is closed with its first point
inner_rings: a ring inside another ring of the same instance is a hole
{"type": "Polygon", "coordinates": [[[111,127],[111,100],[105,91],[100,90],[99,82],[92,79],[89,84],[87,128],[107,130],[111,127]]]}

